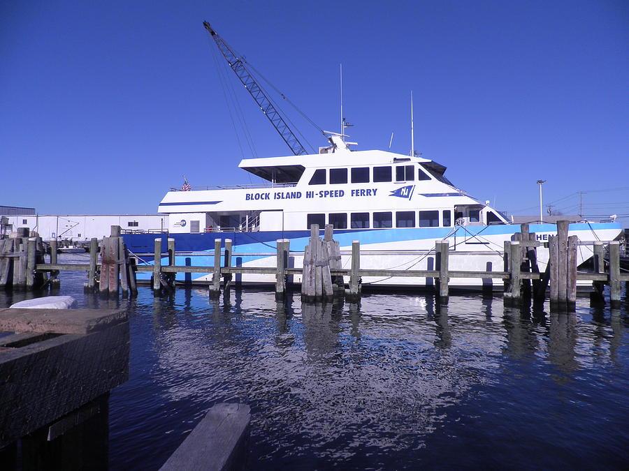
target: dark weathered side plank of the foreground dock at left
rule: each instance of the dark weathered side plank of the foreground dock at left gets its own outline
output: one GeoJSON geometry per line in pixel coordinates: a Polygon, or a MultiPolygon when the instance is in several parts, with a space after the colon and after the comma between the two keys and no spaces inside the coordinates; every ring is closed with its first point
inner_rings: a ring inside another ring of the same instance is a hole
{"type": "Polygon", "coordinates": [[[0,354],[0,448],[126,381],[129,323],[0,354]]]}

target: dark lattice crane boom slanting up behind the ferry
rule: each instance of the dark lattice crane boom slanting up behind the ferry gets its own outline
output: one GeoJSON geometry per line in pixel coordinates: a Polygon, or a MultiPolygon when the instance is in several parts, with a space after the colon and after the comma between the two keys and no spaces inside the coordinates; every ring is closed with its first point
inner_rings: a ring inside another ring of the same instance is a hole
{"type": "Polygon", "coordinates": [[[258,82],[254,79],[253,75],[247,70],[245,66],[246,61],[238,57],[236,52],[221,38],[218,33],[212,29],[210,23],[204,21],[203,26],[208,30],[212,39],[215,40],[216,45],[219,48],[219,51],[225,57],[227,63],[231,67],[231,70],[236,73],[236,76],[243,82],[245,89],[249,91],[251,96],[256,100],[256,103],[268,118],[268,120],[273,124],[273,127],[280,133],[284,142],[287,143],[288,147],[290,147],[293,154],[296,156],[301,156],[303,154],[308,154],[301,145],[301,142],[297,139],[297,136],[293,133],[291,128],[286,124],[286,121],[282,118],[279,112],[273,106],[273,103],[270,102],[264,91],[259,86],[258,82]]]}

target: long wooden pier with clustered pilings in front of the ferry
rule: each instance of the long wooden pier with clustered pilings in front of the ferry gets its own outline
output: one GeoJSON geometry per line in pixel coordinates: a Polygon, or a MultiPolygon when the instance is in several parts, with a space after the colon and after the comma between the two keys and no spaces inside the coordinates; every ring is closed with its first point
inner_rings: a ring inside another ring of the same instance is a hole
{"type": "Polygon", "coordinates": [[[309,244],[303,252],[291,253],[289,241],[278,240],[277,251],[273,254],[276,258],[275,267],[233,267],[234,254],[230,239],[215,240],[214,264],[211,266],[176,265],[175,240],[168,239],[167,246],[162,247],[161,238],[155,239],[152,254],[154,264],[138,266],[122,242],[119,226],[112,226],[111,236],[103,237],[100,246],[99,241],[92,239],[88,264],[59,264],[55,255],[51,255],[51,263],[47,264],[41,262],[39,256],[40,239],[24,237],[22,234],[22,237],[17,237],[9,244],[3,244],[5,248],[10,247],[12,252],[5,251],[0,255],[0,287],[55,287],[59,271],[75,270],[87,272],[85,289],[88,292],[98,291],[103,297],[117,297],[121,292],[122,296],[133,296],[137,293],[136,273],[150,272],[152,289],[156,295],[160,295],[175,290],[175,274],[203,273],[212,274],[209,294],[210,297],[218,297],[222,292],[229,292],[234,275],[269,274],[275,275],[275,295],[277,299],[282,299],[287,290],[287,278],[301,275],[303,300],[311,302],[343,295],[350,300],[359,299],[362,291],[361,279],[366,276],[410,277],[432,278],[440,303],[447,304],[452,278],[484,278],[504,281],[504,299],[507,304],[531,300],[534,304],[543,304],[549,292],[551,309],[573,310],[577,280],[586,280],[593,283],[595,299],[601,300],[603,287],[609,286],[611,304],[613,307],[619,306],[622,282],[629,281],[629,275],[621,273],[619,242],[578,241],[576,237],[567,237],[567,228],[567,221],[559,221],[557,235],[549,237],[548,242],[540,242],[535,240],[535,234],[529,233],[528,225],[521,225],[521,232],[514,234],[511,241],[505,241],[503,271],[452,270],[450,257],[459,252],[449,251],[447,241],[436,242],[435,269],[428,270],[361,268],[360,243],[354,241],[351,267],[343,269],[340,265],[338,242],[333,240],[330,225],[326,226],[324,239],[319,237],[319,227],[313,226],[309,244]],[[594,269],[588,273],[578,272],[577,246],[586,244],[593,246],[594,269]],[[537,266],[537,248],[542,245],[548,246],[550,253],[544,272],[540,272],[537,266]],[[605,260],[605,248],[609,262],[605,260]],[[99,251],[100,264],[97,257],[99,251]],[[289,267],[291,254],[304,255],[303,267],[289,267]],[[163,258],[168,259],[168,264],[162,263],[163,258]],[[345,277],[348,278],[347,288],[345,277]]]}

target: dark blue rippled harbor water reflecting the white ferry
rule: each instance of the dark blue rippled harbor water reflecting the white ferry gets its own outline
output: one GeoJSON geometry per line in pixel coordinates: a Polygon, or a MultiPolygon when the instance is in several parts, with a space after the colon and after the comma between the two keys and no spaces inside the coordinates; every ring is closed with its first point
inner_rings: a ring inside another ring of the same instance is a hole
{"type": "MultiPolygon", "coordinates": [[[[62,255],[83,262],[80,255],[62,255]]],[[[177,290],[128,306],[129,381],[110,396],[110,468],[157,469],[215,403],[252,408],[248,468],[624,468],[629,315],[531,313],[500,297],[372,294],[277,304],[177,290]]],[[[21,297],[20,297],[21,296],[21,297]]],[[[0,293],[0,306],[24,294],[0,293]]]]}

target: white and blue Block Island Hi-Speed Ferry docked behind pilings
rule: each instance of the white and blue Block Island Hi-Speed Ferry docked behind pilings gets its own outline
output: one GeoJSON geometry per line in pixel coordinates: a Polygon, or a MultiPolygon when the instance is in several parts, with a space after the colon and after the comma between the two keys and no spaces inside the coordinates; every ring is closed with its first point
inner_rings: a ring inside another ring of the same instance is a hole
{"type": "MultiPolygon", "coordinates": [[[[361,268],[434,269],[435,241],[449,243],[452,270],[503,271],[504,241],[520,226],[500,211],[471,197],[445,177],[446,167],[420,156],[389,151],[353,151],[341,134],[328,133],[330,145],[319,154],[274,158],[245,158],[241,169],[265,184],[171,188],[158,211],[169,215],[168,234],[175,239],[178,265],[209,267],[215,239],[233,241],[236,266],[274,267],[277,239],[290,240],[290,264],[301,267],[310,227],[334,227],[342,266],[349,268],[352,241],[361,242],[361,268]]],[[[537,240],[556,234],[556,225],[530,225],[537,240]]],[[[616,222],[581,221],[570,224],[570,235],[581,241],[610,241],[621,234],[616,222]]],[[[156,234],[125,234],[140,261],[152,264],[156,234]]],[[[579,246],[578,263],[593,255],[579,246]]],[[[538,249],[543,271],[548,251],[538,249]]],[[[167,257],[162,260],[168,263],[167,257]]],[[[140,273],[138,277],[150,277],[140,273]]],[[[211,274],[188,275],[192,282],[209,283],[211,274]]],[[[185,280],[185,274],[177,279],[185,280]]],[[[242,283],[275,283],[274,275],[243,274],[242,283]]],[[[301,283],[301,276],[294,276],[301,283]]],[[[433,278],[363,277],[363,287],[431,286],[433,278]]],[[[451,287],[502,290],[498,278],[453,278],[451,287]]]]}

